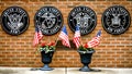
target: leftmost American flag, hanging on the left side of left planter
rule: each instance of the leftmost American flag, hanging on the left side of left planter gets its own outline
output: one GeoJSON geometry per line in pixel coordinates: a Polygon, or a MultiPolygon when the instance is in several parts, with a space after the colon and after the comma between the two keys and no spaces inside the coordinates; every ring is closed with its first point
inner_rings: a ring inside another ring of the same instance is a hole
{"type": "Polygon", "coordinates": [[[40,42],[40,40],[42,39],[42,37],[43,37],[43,34],[42,34],[40,27],[36,26],[35,27],[35,35],[34,35],[33,46],[36,46],[40,42]]]}

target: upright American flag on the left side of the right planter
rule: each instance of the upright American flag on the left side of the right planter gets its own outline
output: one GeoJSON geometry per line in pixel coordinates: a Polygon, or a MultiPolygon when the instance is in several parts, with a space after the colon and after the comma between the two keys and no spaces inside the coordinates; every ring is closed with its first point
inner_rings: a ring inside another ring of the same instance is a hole
{"type": "Polygon", "coordinates": [[[77,48],[79,48],[79,46],[80,46],[80,30],[79,30],[79,26],[78,25],[76,25],[76,32],[75,32],[75,36],[74,36],[73,42],[75,44],[75,46],[77,48]]]}

